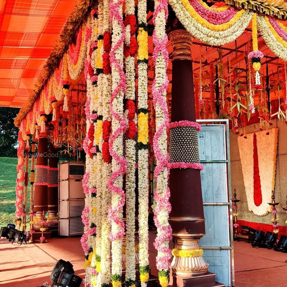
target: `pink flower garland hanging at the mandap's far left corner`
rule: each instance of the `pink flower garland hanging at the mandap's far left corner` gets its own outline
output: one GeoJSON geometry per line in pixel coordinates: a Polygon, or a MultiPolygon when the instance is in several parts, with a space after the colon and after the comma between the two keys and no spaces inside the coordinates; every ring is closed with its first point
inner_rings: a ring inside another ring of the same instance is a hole
{"type": "Polygon", "coordinates": [[[17,164],[17,179],[16,179],[16,186],[15,186],[15,191],[16,191],[16,201],[15,201],[15,206],[16,206],[16,212],[15,212],[15,218],[20,218],[22,215],[22,204],[23,204],[23,181],[25,179],[24,175],[24,148],[25,148],[25,142],[22,138],[22,131],[20,130],[18,132],[18,150],[17,150],[17,156],[18,156],[18,164],[17,164]]]}

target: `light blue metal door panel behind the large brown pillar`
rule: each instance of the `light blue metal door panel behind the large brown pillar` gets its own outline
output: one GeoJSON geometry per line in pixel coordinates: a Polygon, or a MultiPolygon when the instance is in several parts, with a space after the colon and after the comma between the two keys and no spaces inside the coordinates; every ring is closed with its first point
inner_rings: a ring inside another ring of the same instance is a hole
{"type": "Polygon", "coordinates": [[[210,265],[209,271],[216,274],[216,281],[232,286],[226,125],[201,125],[198,136],[200,160],[204,165],[201,188],[206,232],[199,244],[210,265]]]}

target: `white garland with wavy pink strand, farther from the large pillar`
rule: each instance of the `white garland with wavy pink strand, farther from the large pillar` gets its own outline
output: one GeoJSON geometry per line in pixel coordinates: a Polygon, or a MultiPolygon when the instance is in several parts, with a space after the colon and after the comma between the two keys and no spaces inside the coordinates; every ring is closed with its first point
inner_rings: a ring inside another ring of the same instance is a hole
{"type": "Polygon", "coordinates": [[[112,175],[108,187],[112,193],[108,220],[111,224],[110,240],[112,241],[112,283],[113,287],[121,287],[122,281],[122,238],[125,234],[123,205],[123,174],[126,171],[126,160],[123,156],[123,133],[126,122],[123,118],[123,95],[125,93],[125,73],[123,71],[123,43],[125,40],[125,25],[123,23],[123,0],[110,1],[110,18],[112,21],[112,48],[110,63],[112,67],[112,97],[110,111],[112,114],[112,134],[110,136],[110,155],[112,159],[112,175]]]}

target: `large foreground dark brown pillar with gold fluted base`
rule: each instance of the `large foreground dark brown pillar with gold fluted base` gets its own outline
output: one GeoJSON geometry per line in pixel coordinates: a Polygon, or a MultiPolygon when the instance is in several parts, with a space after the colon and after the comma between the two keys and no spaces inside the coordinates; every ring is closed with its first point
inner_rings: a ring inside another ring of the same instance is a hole
{"type": "MultiPolygon", "coordinates": [[[[170,32],[172,54],[171,122],[196,121],[191,44],[193,37],[186,30],[170,32]]],[[[193,144],[198,144],[197,132],[193,144]]],[[[179,141],[180,142],[180,141],[179,141]]],[[[178,147],[179,150],[181,147],[178,147]]],[[[171,154],[170,154],[171,155],[171,154]]],[[[178,162],[183,162],[179,160],[178,162]]],[[[198,239],[205,235],[200,170],[170,169],[170,225],[177,251],[189,250],[194,257],[174,256],[170,284],[173,286],[214,286],[215,274],[208,273],[198,239]]]]}

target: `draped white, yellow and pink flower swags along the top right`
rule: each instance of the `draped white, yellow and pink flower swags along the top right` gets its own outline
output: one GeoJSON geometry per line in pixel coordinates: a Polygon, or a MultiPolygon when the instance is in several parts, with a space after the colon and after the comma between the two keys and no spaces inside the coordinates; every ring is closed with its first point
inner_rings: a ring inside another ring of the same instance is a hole
{"type": "MultiPolygon", "coordinates": [[[[169,0],[183,26],[197,39],[222,46],[238,38],[249,26],[253,11],[230,5],[208,7],[202,0],[169,0]]],[[[275,17],[257,15],[258,32],[269,49],[287,60],[287,28],[275,17]]]]}

